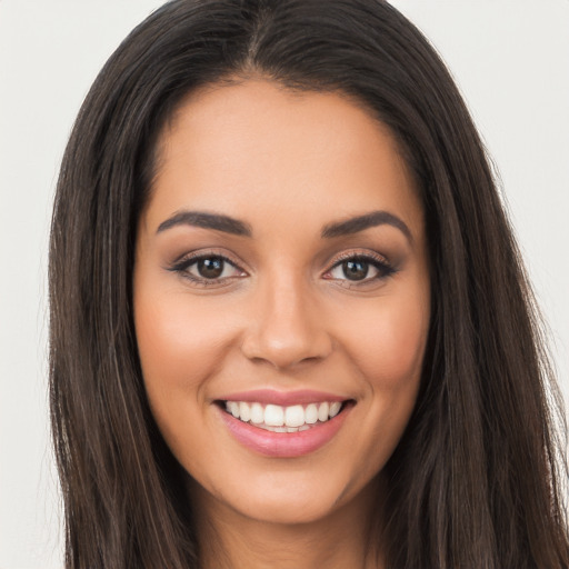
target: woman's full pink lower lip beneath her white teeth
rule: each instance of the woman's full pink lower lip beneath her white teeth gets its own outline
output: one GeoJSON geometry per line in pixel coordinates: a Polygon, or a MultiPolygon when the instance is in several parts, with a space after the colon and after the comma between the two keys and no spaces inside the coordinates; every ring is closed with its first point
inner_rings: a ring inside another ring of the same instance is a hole
{"type": "Polygon", "coordinates": [[[351,405],[345,405],[333,419],[297,432],[268,431],[218,409],[229,432],[244,447],[267,457],[293,458],[315,452],[329,442],[340,430],[351,408],[351,405]]]}

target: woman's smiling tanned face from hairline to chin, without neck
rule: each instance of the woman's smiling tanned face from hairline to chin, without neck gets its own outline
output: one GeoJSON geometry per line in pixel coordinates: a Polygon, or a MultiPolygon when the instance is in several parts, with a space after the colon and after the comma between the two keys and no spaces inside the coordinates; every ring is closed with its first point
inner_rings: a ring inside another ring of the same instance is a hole
{"type": "Polygon", "coordinates": [[[202,503],[302,522],[362,496],[413,408],[423,212],[388,130],[336,93],[194,93],[159,143],[134,319],[162,436],[202,503]]]}

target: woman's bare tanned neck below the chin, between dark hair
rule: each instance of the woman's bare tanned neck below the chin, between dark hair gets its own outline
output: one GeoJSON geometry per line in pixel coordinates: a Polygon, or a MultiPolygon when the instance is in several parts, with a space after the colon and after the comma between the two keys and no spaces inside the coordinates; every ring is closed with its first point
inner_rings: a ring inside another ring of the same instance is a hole
{"type": "Polygon", "coordinates": [[[322,519],[288,525],[244,517],[191,492],[202,569],[381,569],[377,485],[322,519]],[[376,542],[376,543],[375,543],[376,542]]]}

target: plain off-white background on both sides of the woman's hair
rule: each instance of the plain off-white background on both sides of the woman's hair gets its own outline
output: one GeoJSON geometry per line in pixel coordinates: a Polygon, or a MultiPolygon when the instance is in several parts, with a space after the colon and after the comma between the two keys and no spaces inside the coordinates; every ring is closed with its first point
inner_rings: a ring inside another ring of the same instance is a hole
{"type": "MultiPolygon", "coordinates": [[[[0,568],[62,567],[47,412],[47,243],[87,90],[160,0],[0,0],[0,568]]],[[[569,395],[569,0],[395,0],[498,164],[569,395]]]]}

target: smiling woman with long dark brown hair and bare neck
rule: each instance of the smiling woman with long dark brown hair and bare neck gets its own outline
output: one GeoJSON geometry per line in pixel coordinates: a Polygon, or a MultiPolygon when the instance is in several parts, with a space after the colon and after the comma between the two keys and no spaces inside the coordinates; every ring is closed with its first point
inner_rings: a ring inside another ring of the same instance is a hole
{"type": "Polygon", "coordinates": [[[76,123],[50,279],[68,567],[568,566],[521,261],[389,4],[152,14],[76,123]]]}

